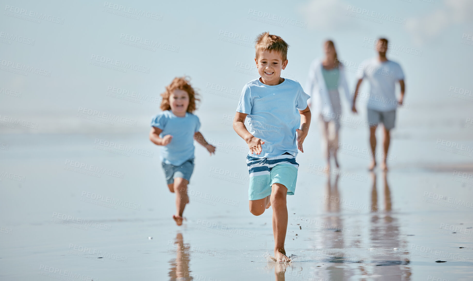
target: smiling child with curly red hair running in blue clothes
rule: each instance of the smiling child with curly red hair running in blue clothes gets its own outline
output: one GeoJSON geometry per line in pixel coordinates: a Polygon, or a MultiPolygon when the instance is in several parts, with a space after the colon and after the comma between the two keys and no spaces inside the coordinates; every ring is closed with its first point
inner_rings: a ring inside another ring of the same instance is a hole
{"type": "Polygon", "coordinates": [[[189,81],[175,78],[166,91],[161,94],[160,114],[151,120],[149,140],[162,145],[161,165],[166,175],[167,187],[176,193],[176,213],[173,215],[177,225],[182,225],[182,214],[187,197],[187,184],[194,170],[194,142],[205,147],[210,155],[215,154],[215,147],[207,143],[199,128],[199,117],[192,114],[195,101],[199,100],[189,81]]]}

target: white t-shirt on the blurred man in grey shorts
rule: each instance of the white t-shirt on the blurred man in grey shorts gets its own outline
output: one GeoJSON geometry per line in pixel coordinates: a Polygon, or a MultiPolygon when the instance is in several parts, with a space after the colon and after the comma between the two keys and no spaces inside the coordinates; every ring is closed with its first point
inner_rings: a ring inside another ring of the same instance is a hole
{"type": "Polygon", "coordinates": [[[377,111],[395,110],[397,108],[395,83],[404,79],[399,63],[389,60],[379,61],[376,57],[363,61],[360,68],[362,72],[358,78],[369,81],[368,108],[377,111]]]}

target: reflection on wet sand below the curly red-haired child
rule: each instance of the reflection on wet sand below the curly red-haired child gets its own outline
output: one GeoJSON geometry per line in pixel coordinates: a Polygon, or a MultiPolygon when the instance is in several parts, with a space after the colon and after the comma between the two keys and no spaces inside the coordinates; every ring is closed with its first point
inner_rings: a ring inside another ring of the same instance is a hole
{"type": "Polygon", "coordinates": [[[175,237],[175,258],[169,261],[171,267],[169,268],[170,281],[189,281],[193,280],[190,276],[189,262],[191,261],[190,246],[188,243],[184,244],[182,233],[177,233],[175,237]]]}

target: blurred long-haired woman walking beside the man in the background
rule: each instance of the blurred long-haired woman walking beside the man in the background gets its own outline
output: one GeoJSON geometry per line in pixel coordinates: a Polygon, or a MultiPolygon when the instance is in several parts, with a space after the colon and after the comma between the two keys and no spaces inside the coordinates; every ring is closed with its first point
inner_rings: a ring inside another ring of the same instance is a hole
{"type": "Polygon", "coordinates": [[[327,161],[326,170],[330,171],[330,158],[333,158],[335,166],[339,167],[337,150],[342,105],[338,89],[343,88],[350,108],[352,100],[343,65],[338,60],[333,41],[328,40],[324,43],[324,52],[325,58],[323,60],[316,59],[310,65],[306,92],[311,96],[308,100],[309,106],[319,119],[322,150],[327,161]]]}

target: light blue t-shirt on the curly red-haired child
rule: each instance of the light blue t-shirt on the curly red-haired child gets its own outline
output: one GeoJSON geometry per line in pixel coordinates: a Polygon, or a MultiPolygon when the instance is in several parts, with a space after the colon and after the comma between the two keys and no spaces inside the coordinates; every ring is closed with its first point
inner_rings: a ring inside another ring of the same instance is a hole
{"type": "Polygon", "coordinates": [[[199,132],[201,123],[199,117],[192,113],[185,113],[178,117],[170,110],[165,110],[151,120],[151,126],[163,132],[159,134],[173,136],[171,142],[161,147],[161,160],[166,164],[180,166],[185,161],[194,158],[194,133],[199,132]]]}

